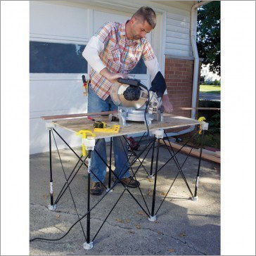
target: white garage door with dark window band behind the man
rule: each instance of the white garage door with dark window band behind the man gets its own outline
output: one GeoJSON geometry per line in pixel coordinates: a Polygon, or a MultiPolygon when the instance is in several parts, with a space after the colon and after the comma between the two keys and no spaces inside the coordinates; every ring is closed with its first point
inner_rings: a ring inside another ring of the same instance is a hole
{"type": "MultiPolygon", "coordinates": [[[[103,23],[122,23],[131,15],[30,1],[30,153],[49,151],[42,115],[87,112],[81,77],[88,77],[90,67],[82,51],[103,23]]],[[[148,39],[151,41],[151,34],[148,39]]],[[[132,75],[149,84],[142,60],[132,75]]],[[[61,132],[71,146],[79,146],[80,139],[74,134],[61,132]]]]}

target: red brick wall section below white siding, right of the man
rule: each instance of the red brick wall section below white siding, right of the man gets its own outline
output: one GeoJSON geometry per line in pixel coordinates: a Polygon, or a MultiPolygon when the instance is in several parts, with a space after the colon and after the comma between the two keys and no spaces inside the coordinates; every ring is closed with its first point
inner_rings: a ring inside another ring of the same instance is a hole
{"type": "MultiPolygon", "coordinates": [[[[165,82],[167,84],[169,99],[172,102],[174,108],[174,111],[172,113],[174,115],[191,117],[191,110],[179,110],[179,108],[191,108],[193,88],[193,65],[194,60],[168,58],[167,56],[165,58],[165,82]]],[[[198,72],[198,96],[200,67],[201,63],[199,63],[198,72]]]]}

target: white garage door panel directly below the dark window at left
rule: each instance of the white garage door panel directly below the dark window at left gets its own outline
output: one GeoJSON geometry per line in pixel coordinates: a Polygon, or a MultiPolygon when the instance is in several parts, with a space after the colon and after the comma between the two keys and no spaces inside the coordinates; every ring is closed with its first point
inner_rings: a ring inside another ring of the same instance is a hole
{"type": "Polygon", "coordinates": [[[82,95],[82,81],[30,81],[30,117],[44,113],[85,113],[87,97],[82,95]]]}

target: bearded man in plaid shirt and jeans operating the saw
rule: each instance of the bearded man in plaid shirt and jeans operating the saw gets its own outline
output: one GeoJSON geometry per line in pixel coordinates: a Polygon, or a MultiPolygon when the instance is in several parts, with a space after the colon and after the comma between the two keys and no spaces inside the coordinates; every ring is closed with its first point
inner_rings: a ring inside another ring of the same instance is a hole
{"type": "MultiPolygon", "coordinates": [[[[110,98],[110,87],[117,81],[117,78],[128,78],[127,74],[136,66],[141,57],[153,79],[151,90],[155,91],[158,96],[162,96],[165,112],[172,112],[165,79],[160,73],[158,60],[152,47],[146,39],[146,34],[153,30],[155,24],[153,9],[141,7],[134,13],[131,20],[125,23],[106,23],[91,37],[82,53],[92,68],[89,74],[89,113],[117,110],[117,106],[110,98]]],[[[100,139],[95,148],[106,162],[105,139],[100,139]]],[[[120,181],[125,185],[129,184],[129,187],[139,186],[139,181],[129,176],[127,143],[123,141],[122,136],[113,138],[113,150],[117,177],[122,178],[120,181]]],[[[91,153],[91,170],[95,175],[91,174],[93,182],[90,192],[92,195],[101,195],[106,167],[94,151],[91,153]]]]}

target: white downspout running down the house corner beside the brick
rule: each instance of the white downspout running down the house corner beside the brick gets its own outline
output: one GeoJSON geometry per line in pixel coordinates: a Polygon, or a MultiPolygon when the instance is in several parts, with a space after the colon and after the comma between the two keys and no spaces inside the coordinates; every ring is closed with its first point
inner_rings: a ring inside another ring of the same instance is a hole
{"type": "MultiPolygon", "coordinates": [[[[190,23],[190,38],[191,45],[193,50],[194,57],[194,70],[193,70],[193,89],[192,89],[192,104],[191,108],[196,108],[197,94],[198,94],[198,69],[199,69],[199,57],[198,57],[198,48],[196,46],[196,28],[197,28],[197,19],[198,19],[198,7],[204,6],[205,4],[210,3],[211,1],[200,1],[200,3],[195,4],[191,8],[191,23],[190,23]]],[[[196,110],[191,110],[191,118],[195,119],[196,110]]],[[[184,129],[180,132],[169,132],[168,136],[177,136],[181,134],[186,134],[192,132],[195,129],[195,125],[191,125],[188,129],[184,129]]]]}

